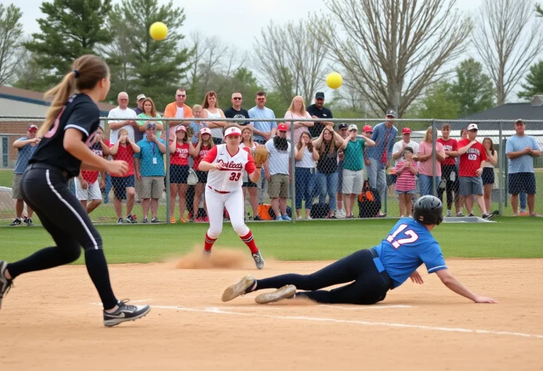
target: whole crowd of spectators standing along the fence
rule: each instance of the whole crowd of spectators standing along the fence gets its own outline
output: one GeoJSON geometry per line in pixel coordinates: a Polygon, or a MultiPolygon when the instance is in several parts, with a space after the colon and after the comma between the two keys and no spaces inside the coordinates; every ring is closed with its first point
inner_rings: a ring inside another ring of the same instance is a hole
{"type": "MultiPolygon", "coordinates": [[[[105,158],[127,161],[129,172],[119,176],[82,171],[74,179],[73,190],[88,213],[103,202],[109,203],[112,188],[117,223],[137,223],[136,204],[141,205],[142,223],[159,223],[159,200],[165,196],[169,173],[170,223],[207,222],[207,173],[199,170],[199,163],[211,148],[223,143],[224,130],[235,125],[242,131],[240,147],[255,153],[257,146],[265,146],[269,153],[258,183],[251,182],[246,174],[243,178],[243,192],[253,220],[384,217],[383,201],[389,195],[397,196],[399,216],[407,217],[412,215],[414,200],[434,190],[440,199],[445,194],[448,217],[474,216],[475,204],[482,218],[496,215],[491,211],[491,194],[498,153],[491,138],[478,139],[476,123],[462,130],[459,141],[450,137],[450,125],[443,124],[435,143],[431,127],[417,143],[411,139],[409,127],[402,128],[401,139],[395,141],[399,132],[394,110],[388,110],[380,124],[363,126],[361,133],[356,124],[334,127],[322,92],[315,94],[315,101],[308,107],[302,97],[294,97],[284,122],[279,124],[266,121],[276,119],[276,115],[266,107],[264,91],[256,93],[255,106],[250,110],[242,107],[243,95],[238,92],[231,95],[231,106],[226,110],[218,107],[213,91],[206,93],[201,105],[189,107],[186,100],[185,88],[177,89],[175,101],[165,107],[162,117],[146,95],[138,95],[136,108],[131,109],[127,93],[119,93],[118,106],[108,114],[109,139],[105,138],[105,127],[100,127],[91,149],[105,158]],[[238,121],[224,121],[227,118],[238,121]],[[165,163],[167,152],[169,163],[165,163]],[[287,206],[293,189],[296,213],[287,206]],[[264,204],[265,199],[270,200],[269,205],[264,204]],[[356,201],[358,215],[354,214],[356,201]],[[370,214],[363,210],[363,202],[373,203],[370,214]]],[[[13,178],[16,219],[11,225],[33,225],[33,211],[27,206],[23,213],[19,183],[40,142],[36,131],[37,126],[28,126],[26,136],[13,143],[18,160],[13,178]]],[[[518,119],[515,135],[508,138],[506,145],[508,191],[514,215],[518,215],[520,203],[521,213],[527,208],[530,216],[537,216],[533,158],[540,155],[537,141],[525,134],[525,124],[518,119]]]]}

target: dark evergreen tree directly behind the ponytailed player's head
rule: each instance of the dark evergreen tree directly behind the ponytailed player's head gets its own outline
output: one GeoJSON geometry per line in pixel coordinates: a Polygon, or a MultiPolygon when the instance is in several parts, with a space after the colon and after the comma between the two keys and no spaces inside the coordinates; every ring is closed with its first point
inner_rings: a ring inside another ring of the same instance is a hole
{"type": "Polygon", "coordinates": [[[37,20],[41,33],[25,43],[35,54],[35,63],[47,71],[35,88],[45,90],[69,72],[71,62],[83,54],[96,54],[99,44],[112,40],[105,20],[111,0],[52,0],[40,10],[45,18],[37,20]]]}

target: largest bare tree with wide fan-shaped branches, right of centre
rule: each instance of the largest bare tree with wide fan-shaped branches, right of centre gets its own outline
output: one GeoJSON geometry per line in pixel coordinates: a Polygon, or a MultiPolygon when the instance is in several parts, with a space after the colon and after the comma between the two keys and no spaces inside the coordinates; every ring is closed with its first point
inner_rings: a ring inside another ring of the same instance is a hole
{"type": "Polygon", "coordinates": [[[465,51],[472,22],[455,0],[327,0],[311,30],[380,114],[401,116],[465,51]]]}

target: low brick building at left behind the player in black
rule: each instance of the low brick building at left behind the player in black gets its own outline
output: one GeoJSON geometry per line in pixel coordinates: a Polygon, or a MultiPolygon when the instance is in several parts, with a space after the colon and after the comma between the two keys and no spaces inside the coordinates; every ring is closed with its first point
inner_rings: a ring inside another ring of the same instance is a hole
{"type": "MultiPolygon", "coordinates": [[[[50,105],[49,100],[43,98],[43,93],[0,86],[0,168],[11,168],[17,160],[17,150],[13,148],[13,141],[24,136],[30,122],[8,122],[2,116],[40,116],[45,117],[50,105]]],[[[107,113],[115,105],[98,103],[100,116],[107,113]]],[[[40,126],[40,121],[33,122],[40,126]]]]}

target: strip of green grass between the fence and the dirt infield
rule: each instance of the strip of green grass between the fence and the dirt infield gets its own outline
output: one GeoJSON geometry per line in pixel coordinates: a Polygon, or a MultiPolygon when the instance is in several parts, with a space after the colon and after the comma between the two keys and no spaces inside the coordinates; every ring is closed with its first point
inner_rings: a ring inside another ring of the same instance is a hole
{"type": "MultiPolygon", "coordinates": [[[[332,260],[371,247],[395,220],[313,220],[301,223],[250,223],[264,259],[332,260]]],[[[498,223],[445,223],[433,231],[445,257],[543,258],[541,218],[499,218],[498,223]]],[[[206,224],[101,225],[110,263],[149,263],[203,245],[206,224]]],[[[0,259],[14,261],[53,245],[40,227],[0,228],[0,259]]],[[[216,247],[246,249],[229,223],[216,247]]],[[[76,264],[83,263],[79,259],[76,264]]]]}

